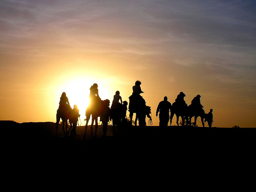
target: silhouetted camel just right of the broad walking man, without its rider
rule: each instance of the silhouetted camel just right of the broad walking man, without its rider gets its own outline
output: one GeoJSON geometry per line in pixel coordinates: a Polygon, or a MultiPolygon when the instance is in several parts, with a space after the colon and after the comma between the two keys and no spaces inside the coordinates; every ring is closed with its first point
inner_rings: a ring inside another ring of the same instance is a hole
{"type": "Polygon", "coordinates": [[[170,110],[170,125],[172,126],[172,121],[173,121],[173,117],[174,115],[176,115],[177,120],[176,123],[179,126],[179,118],[181,117],[182,120],[182,126],[185,125],[185,119],[188,122],[188,117],[187,117],[187,104],[186,103],[182,103],[179,104],[177,102],[174,102],[172,105],[172,109],[170,110]]]}

